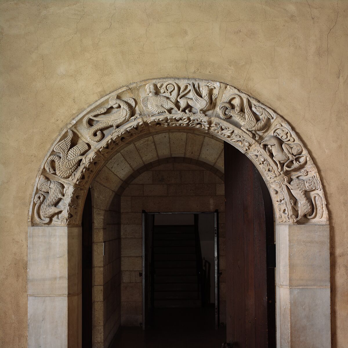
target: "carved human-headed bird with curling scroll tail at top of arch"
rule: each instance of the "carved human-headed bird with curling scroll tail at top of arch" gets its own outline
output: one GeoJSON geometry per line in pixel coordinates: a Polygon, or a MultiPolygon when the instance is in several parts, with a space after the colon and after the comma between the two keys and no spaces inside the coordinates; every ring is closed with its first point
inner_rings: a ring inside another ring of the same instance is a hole
{"type": "Polygon", "coordinates": [[[141,105],[153,112],[154,114],[166,113],[169,114],[168,110],[175,109],[179,111],[175,106],[178,85],[175,82],[167,82],[166,84],[159,84],[158,88],[161,89],[161,93],[167,93],[169,96],[156,94],[156,84],[150,83],[145,86],[147,97],[141,99],[141,105]],[[172,95],[173,94],[173,95],[172,95]]]}

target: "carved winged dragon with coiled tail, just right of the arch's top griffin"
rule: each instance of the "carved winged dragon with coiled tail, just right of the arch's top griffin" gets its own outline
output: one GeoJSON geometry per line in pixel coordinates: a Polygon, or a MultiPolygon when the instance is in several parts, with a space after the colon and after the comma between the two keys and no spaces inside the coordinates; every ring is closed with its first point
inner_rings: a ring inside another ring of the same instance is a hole
{"type": "Polygon", "coordinates": [[[234,117],[242,126],[245,133],[247,133],[250,137],[255,135],[256,140],[259,139],[260,134],[264,133],[268,128],[267,120],[274,119],[274,117],[261,106],[252,105],[252,109],[250,109],[248,98],[245,98],[244,108],[245,113],[240,111],[242,107],[242,97],[238,94],[232,94],[229,100],[236,98],[237,104],[235,108],[232,108],[232,105],[228,102],[222,102],[219,105],[219,111],[221,113],[222,118],[230,118],[234,117]],[[261,116],[259,121],[256,120],[253,111],[261,116]]]}

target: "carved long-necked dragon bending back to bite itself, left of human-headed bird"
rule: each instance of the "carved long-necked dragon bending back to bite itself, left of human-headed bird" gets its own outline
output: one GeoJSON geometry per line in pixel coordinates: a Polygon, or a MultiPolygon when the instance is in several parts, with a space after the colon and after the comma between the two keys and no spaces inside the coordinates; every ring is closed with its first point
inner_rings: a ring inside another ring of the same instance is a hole
{"type": "Polygon", "coordinates": [[[134,108],[135,100],[133,98],[121,100],[117,96],[110,97],[108,106],[92,111],[85,116],[84,125],[88,129],[89,139],[96,143],[100,142],[104,137],[101,131],[108,127],[114,127],[116,129],[126,123],[132,116],[132,110],[134,108]],[[115,110],[106,113],[110,108],[115,110]],[[89,124],[90,120],[97,121],[97,123],[92,126],[89,124]]]}

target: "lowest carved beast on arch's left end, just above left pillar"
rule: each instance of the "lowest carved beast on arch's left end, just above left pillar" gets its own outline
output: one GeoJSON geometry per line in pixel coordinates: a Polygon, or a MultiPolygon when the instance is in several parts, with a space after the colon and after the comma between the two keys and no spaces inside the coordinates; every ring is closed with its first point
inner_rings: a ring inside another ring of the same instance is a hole
{"type": "Polygon", "coordinates": [[[58,181],[47,179],[45,175],[40,175],[38,189],[48,193],[48,196],[41,192],[35,195],[34,215],[39,222],[48,223],[51,217],[63,211],[62,208],[56,207],[56,204],[64,199],[64,185],[58,181]]]}

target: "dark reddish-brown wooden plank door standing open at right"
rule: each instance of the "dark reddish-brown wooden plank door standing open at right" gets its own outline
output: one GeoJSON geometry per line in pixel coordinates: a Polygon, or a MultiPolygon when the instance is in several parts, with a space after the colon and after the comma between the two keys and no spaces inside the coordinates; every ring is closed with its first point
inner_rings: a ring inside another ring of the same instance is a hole
{"type": "Polygon", "coordinates": [[[271,198],[253,163],[226,142],[224,169],[227,342],[273,348],[275,276],[267,267],[268,245],[274,245],[271,198]]]}

